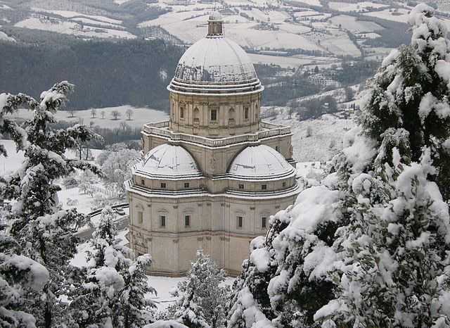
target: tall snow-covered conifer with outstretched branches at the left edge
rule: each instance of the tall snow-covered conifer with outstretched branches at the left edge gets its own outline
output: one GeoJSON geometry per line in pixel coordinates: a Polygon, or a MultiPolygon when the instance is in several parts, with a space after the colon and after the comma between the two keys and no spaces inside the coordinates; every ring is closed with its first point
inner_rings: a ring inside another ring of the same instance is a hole
{"type": "MultiPolygon", "coordinates": [[[[89,222],[89,217],[75,209],[61,210],[53,182],[67,177],[75,169],[95,166],[82,160],[68,160],[64,153],[75,146],[76,140],[88,141],[91,132],[86,127],[75,126],[53,130],[54,114],[67,99],[72,84],[60,82],[49,91],[42,92],[40,101],[25,94],[0,94],[0,133],[8,134],[19,150],[25,153],[23,165],[8,177],[3,177],[0,198],[14,200],[12,210],[6,215],[6,235],[20,245],[20,254],[43,265],[49,273],[39,296],[30,299],[30,313],[37,326],[51,327],[66,321],[64,304],[60,296],[77,279],[72,275],[69,260],[75,255],[77,238],[74,232],[89,222]],[[27,107],[33,117],[18,125],[7,114],[27,107]]],[[[0,146],[0,152],[6,151],[0,146]]],[[[3,278],[4,279],[4,278],[3,278]]]]}

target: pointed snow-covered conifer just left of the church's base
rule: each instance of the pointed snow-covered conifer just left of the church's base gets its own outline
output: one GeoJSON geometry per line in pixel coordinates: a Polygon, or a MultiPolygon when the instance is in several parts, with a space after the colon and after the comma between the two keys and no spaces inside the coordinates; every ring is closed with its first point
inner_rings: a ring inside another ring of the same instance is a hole
{"type": "Polygon", "coordinates": [[[156,294],[148,286],[146,254],[131,260],[131,250],[120,244],[115,213],[104,208],[91,239],[86,281],[72,291],[70,313],[79,327],[143,327],[153,321],[155,305],[146,294],[156,294]]]}

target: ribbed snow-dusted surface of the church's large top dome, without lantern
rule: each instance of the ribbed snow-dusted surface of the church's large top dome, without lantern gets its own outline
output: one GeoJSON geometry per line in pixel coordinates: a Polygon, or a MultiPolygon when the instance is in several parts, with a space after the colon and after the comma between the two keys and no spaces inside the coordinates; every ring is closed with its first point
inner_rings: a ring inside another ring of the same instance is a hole
{"type": "Polygon", "coordinates": [[[247,53],[226,37],[205,37],[179,60],[174,78],[183,82],[250,82],[257,79],[247,53]]]}

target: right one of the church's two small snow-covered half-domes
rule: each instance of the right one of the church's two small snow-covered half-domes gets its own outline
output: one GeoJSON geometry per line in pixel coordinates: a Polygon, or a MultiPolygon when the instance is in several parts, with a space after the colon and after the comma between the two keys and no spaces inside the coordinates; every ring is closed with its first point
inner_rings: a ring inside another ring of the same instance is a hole
{"type": "Polygon", "coordinates": [[[250,146],[231,163],[229,174],[241,179],[271,179],[295,175],[295,169],[281,153],[266,146],[250,146]]]}

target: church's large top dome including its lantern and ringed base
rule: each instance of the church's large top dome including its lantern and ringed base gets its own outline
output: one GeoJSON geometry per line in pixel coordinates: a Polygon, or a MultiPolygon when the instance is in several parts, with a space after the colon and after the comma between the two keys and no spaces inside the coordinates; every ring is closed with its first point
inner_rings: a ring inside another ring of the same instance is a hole
{"type": "Polygon", "coordinates": [[[181,56],[169,91],[180,94],[252,94],[264,89],[244,49],[224,37],[220,13],[208,20],[208,34],[181,56]]]}

